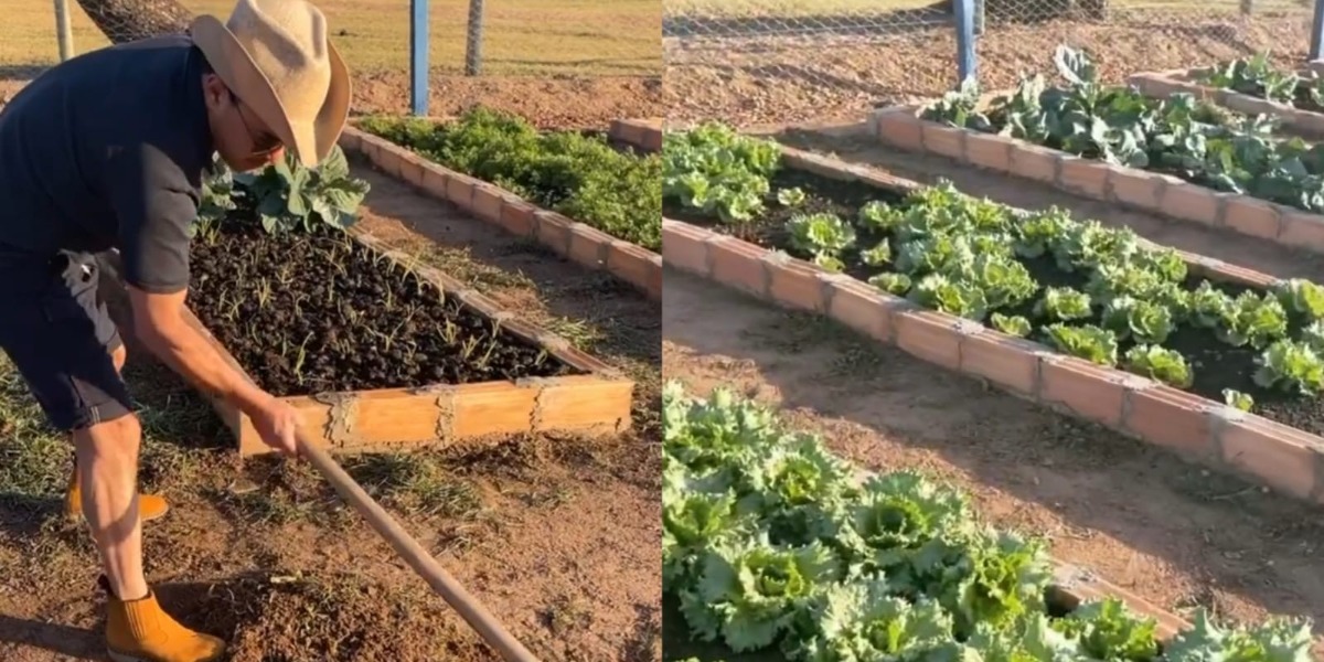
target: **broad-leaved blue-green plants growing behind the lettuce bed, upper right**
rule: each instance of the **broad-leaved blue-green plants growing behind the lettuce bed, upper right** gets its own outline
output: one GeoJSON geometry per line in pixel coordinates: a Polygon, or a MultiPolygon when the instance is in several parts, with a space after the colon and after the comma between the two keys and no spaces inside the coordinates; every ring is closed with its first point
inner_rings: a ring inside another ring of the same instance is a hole
{"type": "MultiPolygon", "coordinates": [[[[1275,136],[1274,118],[1231,113],[1186,93],[1157,99],[1104,85],[1090,57],[1066,45],[1054,52],[1054,64],[1061,86],[1039,74],[1023,77],[982,111],[972,109],[963,89],[927,106],[922,117],[1324,212],[1324,148],[1275,136]]],[[[1295,89],[1291,74],[1266,66],[1253,58],[1217,75],[1229,85],[1267,85],[1275,95],[1295,89]]]]}

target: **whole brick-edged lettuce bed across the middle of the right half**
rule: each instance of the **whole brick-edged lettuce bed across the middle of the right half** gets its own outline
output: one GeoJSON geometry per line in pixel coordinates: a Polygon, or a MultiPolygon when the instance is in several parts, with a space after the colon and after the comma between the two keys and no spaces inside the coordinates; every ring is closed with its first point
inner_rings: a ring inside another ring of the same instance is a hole
{"type": "MultiPolygon", "coordinates": [[[[641,131],[661,128],[618,124],[641,131]]],[[[716,124],[663,142],[669,266],[1298,498],[1324,495],[1324,287],[716,124]]]]}

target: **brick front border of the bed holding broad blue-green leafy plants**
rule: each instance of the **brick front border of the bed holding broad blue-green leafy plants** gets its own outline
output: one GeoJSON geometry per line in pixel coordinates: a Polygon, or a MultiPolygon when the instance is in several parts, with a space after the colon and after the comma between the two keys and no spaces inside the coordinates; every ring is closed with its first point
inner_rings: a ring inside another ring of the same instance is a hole
{"type": "Polygon", "coordinates": [[[1050,184],[1068,193],[1169,218],[1259,237],[1286,248],[1324,253],[1324,216],[1251,196],[1223,193],[1172,175],[1112,166],[1014,138],[956,128],[919,118],[920,106],[874,111],[870,134],[910,152],[1050,184]]]}

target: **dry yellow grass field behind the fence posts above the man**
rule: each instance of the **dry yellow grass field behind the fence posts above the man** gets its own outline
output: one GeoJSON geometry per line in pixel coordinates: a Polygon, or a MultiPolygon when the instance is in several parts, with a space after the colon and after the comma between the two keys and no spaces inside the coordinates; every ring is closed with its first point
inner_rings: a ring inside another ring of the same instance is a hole
{"type": "MultiPolygon", "coordinates": [[[[225,16],[230,0],[183,0],[195,12],[225,16]]],[[[74,52],[107,44],[91,20],[70,1],[74,52]]],[[[320,0],[335,42],[351,69],[409,66],[408,0],[320,0]]],[[[432,64],[461,70],[465,64],[467,0],[430,0],[432,64]]],[[[641,75],[662,66],[662,11],[658,0],[495,0],[486,7],[485,73],[507,75],[641,75]]],[[[60,57],[56,19],[45,0],[5,3],[0,24],[0,78],[26,78],[60,57]],[[28,73],[28,75],[23,75],[28,73]]],[[[401,91],[404,94],[404,91],[401,91]]]]}

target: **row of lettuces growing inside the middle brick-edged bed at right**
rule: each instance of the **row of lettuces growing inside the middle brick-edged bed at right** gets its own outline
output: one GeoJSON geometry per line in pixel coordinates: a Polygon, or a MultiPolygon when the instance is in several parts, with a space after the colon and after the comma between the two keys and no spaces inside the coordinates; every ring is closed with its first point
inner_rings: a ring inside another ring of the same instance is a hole
{"type": "MultiPolygon", "coordinates": [[[[769,209],[797,209],[816,196],[775,189],[776,143],[706,124],[669,134],[666,144],[663,196],[722,226],[757,224],[769,209]]],[[[786,246],[773,248],[825,269],[863,270],[890,294],[1177,388],[1192,385],[1193,365],[1164,343],[1196,330],[1256,351],[1260,388],[1324,391],[1324,287],[1311,281],[1237,291],[1192,278],[1176,250],[1128,228],[1061,208],[1016,209],[949,181],[869,201],[853,216],[793,213],[782,230],[786,246]]],[[[1246,392],[1229,388],[1223,397],[1253,405],[1246,392]]]]}

